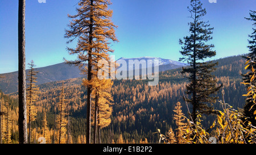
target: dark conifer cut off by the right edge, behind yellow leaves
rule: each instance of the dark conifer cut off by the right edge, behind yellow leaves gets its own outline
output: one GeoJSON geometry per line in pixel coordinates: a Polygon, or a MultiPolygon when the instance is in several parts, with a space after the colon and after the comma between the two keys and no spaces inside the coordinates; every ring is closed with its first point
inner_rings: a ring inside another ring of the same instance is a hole
{"type": "MultiPolygon", "coordinates": [[[[246,59],[246,69],[249,70],[249,72],[247,72],[246,74],[242,75],[243,76],[243,82],[245,83],[251,83],[251,85],[256,86],[256,82],[255,80],[251,80],[251,78],[254,76],[255,74],[255,69],[256,69],[256,11],[250,11],[250,18],[246,18],[247,20],[250,20],[253,23],[253,32],[251,33],[251,35],[249,35],[251,40],[249,41],[249,53],[247,54],[247,56],[245,56],[244,58],[246,59]]],[[[247,91],[250,91],[250,87],[251,85],[246,85],[247,91]]],[[[253,95],[247,95],[246,97],[246,102],[245,102],[245,106],[243,107],[244,110],[244,114],[247,118],[249,118],[249,121],[256,126],[256,120],[255,120],[255,115],[254,115],[254,111],[256,110],[256,106],[255,105],[255,99],[253,98],[253,95]]]]}

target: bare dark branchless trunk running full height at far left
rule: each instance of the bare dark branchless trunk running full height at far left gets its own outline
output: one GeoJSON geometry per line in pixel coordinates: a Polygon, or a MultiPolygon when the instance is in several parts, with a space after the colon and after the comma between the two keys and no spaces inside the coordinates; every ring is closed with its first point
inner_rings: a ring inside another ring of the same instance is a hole
{"type": "Polygon", "coordinates": [[[19,0],[19,13],[18,13],[19,119],[18,119],[18,124],[19,124],[19,143],[20,144],[27,144],[25,9],[26,9],[26,0],[19,0]]]}

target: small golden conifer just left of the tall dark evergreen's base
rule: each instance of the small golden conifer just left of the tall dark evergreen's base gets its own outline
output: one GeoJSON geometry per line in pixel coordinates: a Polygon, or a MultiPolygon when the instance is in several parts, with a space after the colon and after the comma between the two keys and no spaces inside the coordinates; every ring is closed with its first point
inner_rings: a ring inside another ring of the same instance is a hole
{"type": "Polygon", "coordinates": [[[177,128],[176,128],[177,144],[184,143],[183,134],[185,132],[185,129],[187,128],[186,123],[184,122],[185,118],[184,118],[183,112],[181,111],[181,107],[182,106],[181,106],[180,102],[177,102],[177,104],[175,106],[175,110],[174,110],[174,112],[176,113],[176,114],[174,114],[174,120],[177,125],[177,128]]]}

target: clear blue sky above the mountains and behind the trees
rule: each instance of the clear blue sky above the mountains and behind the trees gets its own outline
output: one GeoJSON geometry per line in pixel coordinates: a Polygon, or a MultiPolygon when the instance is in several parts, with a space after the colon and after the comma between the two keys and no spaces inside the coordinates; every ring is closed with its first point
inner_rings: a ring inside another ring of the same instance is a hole
{"type": "MultiPolygon", "coordinates": [[[[26,63],[34,60],[38,67],[72,60],[66,47],[64,30],[67,14],[76,14],[79,0],[26,1],[26,63]]],[[[179,39],[189,35],[187,10],[190,0],[112,0],[113,22],[118,26],[114,43],[115,58],[162,57],[179,60],[179,39]]],[[[247,39],[252,32],[249,10],[255,0],[201,0],[207,10],[205,20],[214,27],[214,59],[247,53],[247,39]]],[[[18,70],[18,0],[0,2],[0,73],[18,70]]]]}

